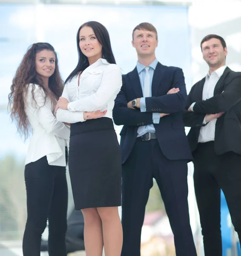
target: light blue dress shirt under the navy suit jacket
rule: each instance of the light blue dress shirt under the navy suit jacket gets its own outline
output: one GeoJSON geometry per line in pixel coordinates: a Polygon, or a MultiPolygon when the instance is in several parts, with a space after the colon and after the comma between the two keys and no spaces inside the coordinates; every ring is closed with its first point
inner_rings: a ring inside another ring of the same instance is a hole
{"type": "MultiPolygon", "coordinates": [[[[158,60],[155,59],[154,61],[152,61],[151,64],[148,65],[148,67],[150,67],[149,69],[149,74],[150,74],[150,97],[152,96],[152,79],[153,79],[153,75],[154,75],[154,71],[155,68],[158,64],[158,60]]],[[[141,82],[141,89],[142,92],[144,92],[144,79],[145,79],[145,67],[144,65],[142,65],[140,62],[137,62],[136,64],[136,68],[137,68],[137,72],[140,78],[140,82],[141,82]]],[[[146,112],[146,99],[145,98],[141,98],[140,100],[140,109],[141,112],[146,112]]],[[[160,122],[160,113],[152,113],[152,122],[154,124],[159,124],[160,122]]],[[[154,125],[146,125],[144,131],[141,134],[137,134],[137,137],[141,137],[144,134],[146,134],[147,132],[151,132],[151,133],[155,133],[155,128],[154,125]]]]}

